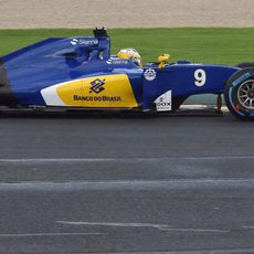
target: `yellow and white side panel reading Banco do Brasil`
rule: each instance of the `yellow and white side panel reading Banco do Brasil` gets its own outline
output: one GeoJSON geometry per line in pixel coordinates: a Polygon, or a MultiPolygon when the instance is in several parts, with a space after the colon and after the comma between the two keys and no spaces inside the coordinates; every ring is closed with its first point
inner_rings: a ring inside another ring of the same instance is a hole
{"type": "Polygon", "coordinates": [[[59,83],[42,89],[41,94],[49,106],[94,108],[138,106],[126,74],[100,75],[59,83]]]}

